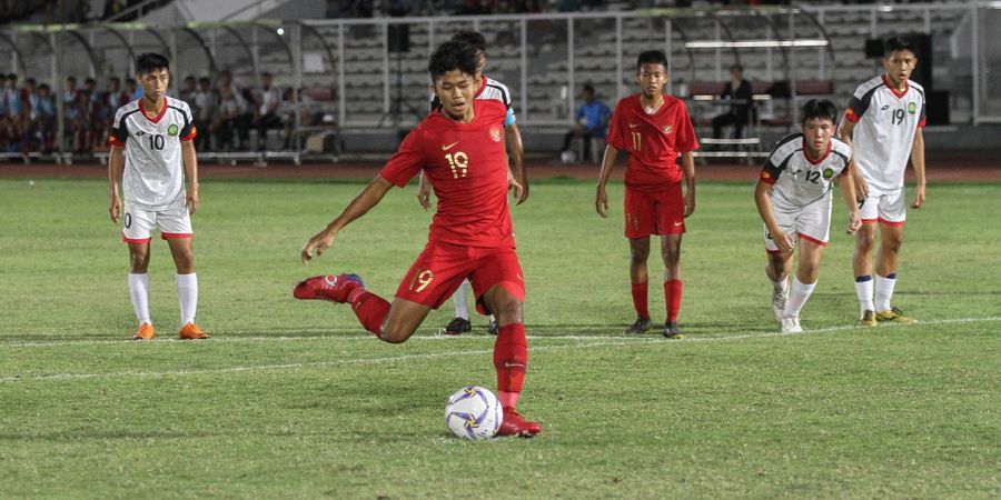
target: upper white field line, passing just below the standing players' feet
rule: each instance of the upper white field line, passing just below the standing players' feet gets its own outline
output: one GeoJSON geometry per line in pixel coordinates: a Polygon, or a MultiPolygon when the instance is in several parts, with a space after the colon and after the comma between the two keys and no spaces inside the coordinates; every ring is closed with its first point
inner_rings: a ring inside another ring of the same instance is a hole
{"type": "MultiPolygon", "coordinates": [[[[901,327],[910,327],[910,326],[934,326],[934,324],[955,324],[955,323],[977,323],[977,322],[992,322],[992,321],[1001,321],[1001,317],[984,317],[984,318],[955,318],[955,319],[941,319],[941,320],[930,320],[930,321],[920,321],[913,324],[881,324],[879,328],[901,328],[901,327]]],[[[843,330],[855,330],[861,327],[856,327],[854,324],[843,324],[840,327],[827,327],[827,328],[817,328],[813,330],[803,331],[802,333],[795,334],[811,334],[811,333],[830,333],[833,331],[843,331],[843,330]]],[[[358,329],[346,330],[350,332],[358,332],[358,329]]],[[[656,334],[657,328],[654,327],[652,329],[653,334],[656,334]]],[[[875,331],[875,330],[873,330],[875,331]]],[[[746,338],[769,338],[769,337],[782,337],[789,336],[793,333],[779,333],[779,332],[766,332],[766,331],[756,331],[754,333],[741,333],[737,331],[723,331],[720,333],[695,333],[695,337],[688,337],[685,339],[686,342],[698,341],[698,342],[715,342],[720,340],[733,340],[733,339],[746,339],[746,338]]],[[[648,336],[648,334],[647,334],[648,336]]],[[[527,336],[529,340],[622,340],[622,339],[642,339],[647,336],[625,336],[625,334],[616,334],[616,336],[587,336],[587,334],[552,334],[552,336],[527,336]]],[[[2,339],[2,334],[0,334],[0,339],[2,339]]],[[[438,340],[438,341],[458,341],[460,339],[479,339],[479,340],[493,340],[496,339],[494,336],[482,336],[482,334],[472,334],[472,336],[444,336],[436,333],[422,333],[415,334],[410,337],[410,340],[438,340]]],[[[351,337],[345,336],[275,336],[275,337],[214,337],[209,342],[218,343],[245,343],[245,342],[304,342],[311,340],[336,340],[336,341],[371,341],[373,337],[370,334],[357,334],[351,337]]],[[[122,343],[192,343],[188,340],[179,340],[176,338],[162,338],[157,339],[153,342],[136,342],[131,339],[120,338],[120,339],[103,339],[103,340],[43,340],[43,341],[30,341],[30,342],[3,342],[0,340],[0,347],[8,348],[47,348],[47,347],[63,347],[63,346],[111,346],[111,344],[122,344],[122,343]]],[[[198,342],[201,343],[201,342],[198,342]]]]}

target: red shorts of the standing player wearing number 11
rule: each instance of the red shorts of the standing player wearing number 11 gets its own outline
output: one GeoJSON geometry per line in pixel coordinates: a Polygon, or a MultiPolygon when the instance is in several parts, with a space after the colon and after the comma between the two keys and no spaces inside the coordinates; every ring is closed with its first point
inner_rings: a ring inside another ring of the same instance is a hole
{"type": "Polygon", "coordinates": [[[626,186],[626,238],[685,232],[685,200],[681,182],[656,192],[640,192],[626,186]]]}

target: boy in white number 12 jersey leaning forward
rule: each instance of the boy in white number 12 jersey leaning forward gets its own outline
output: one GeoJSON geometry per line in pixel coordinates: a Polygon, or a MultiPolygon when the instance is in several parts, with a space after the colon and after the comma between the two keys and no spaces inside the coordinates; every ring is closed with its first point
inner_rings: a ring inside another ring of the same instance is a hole
{"type": "Polygon", "coordinates": [[[800,311],[816,287],[821,257],[831,231],[835,182],[849,207],[846,232],[852,234],[862,226],[849,168],[852,150],[834,139],[838,118],[834,104],[813,99],[803,106],[800,117],[802,133],[786,136],[775,144],[754,190],[769,253],[765,273],[774,287],[772,309],[784,333],[803,331],[800,311]],[[848,181],[842,182],[845,176],[848,181]],[[790,287],[789,273],[797,240],[800,262],[790,287]]]}

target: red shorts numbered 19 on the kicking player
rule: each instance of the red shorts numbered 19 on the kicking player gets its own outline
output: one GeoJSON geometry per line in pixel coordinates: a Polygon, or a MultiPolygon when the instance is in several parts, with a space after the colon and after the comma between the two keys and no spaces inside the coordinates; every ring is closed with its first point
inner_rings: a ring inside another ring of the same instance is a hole
{"type": "Polygon", "coordinates": [[[438,309],[463,280],[473,283],[476,310],[489,313],[483,294],[496,284],[519,301],[525,300],[522,264],[513,247],[475,248],[428,242],[396,289],[396,298],[438,309]]]}

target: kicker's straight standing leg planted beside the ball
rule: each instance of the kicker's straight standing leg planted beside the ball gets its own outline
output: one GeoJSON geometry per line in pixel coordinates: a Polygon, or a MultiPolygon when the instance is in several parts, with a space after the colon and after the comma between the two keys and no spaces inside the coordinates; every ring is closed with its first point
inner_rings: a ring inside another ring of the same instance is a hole
{"type": "Polygon", "coordinates": [[[498,434],[531,438],[542,427],[525,420],[517,404],[528,367],[528,340],[522,304],[525,283],[522,267],[514,249],[487,251],[473,274],[473,289],[479,294],[482,312],[497,318],[498,332],[494,342],[494,368],[497,370],[497,398],[504,408],[504,421],[498,434]],[[483,290],[486,291],[483,291],[483,290]]]}

